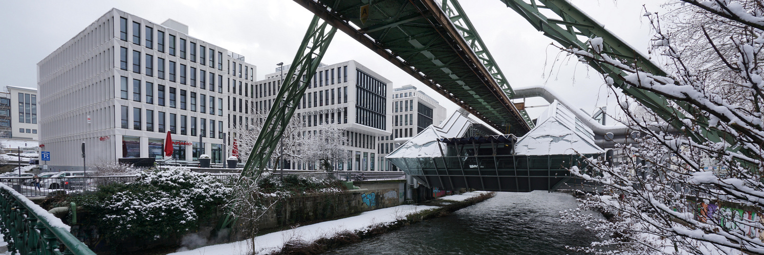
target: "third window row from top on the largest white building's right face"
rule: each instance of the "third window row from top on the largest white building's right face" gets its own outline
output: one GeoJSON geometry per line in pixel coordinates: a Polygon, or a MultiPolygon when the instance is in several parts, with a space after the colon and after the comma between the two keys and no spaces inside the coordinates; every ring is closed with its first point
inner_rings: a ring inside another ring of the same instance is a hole
{"type": "MultiPolygon", "coordinates": [[[[121,76],[120,78],[120,88],[119,88],[119,94],[121,99],[129,100],[128,99],[128,78],[125,76],[121,76]]],[[[164,107],[171,107],[171,108],[180,108],[180,110],[191,110],[193,112],[196,112],[197,110],[197,102],[199,103],[199,113],[206,113],[206,102],[207,102],[207,96],[205,94],[197,94],[196,92],[189,92],[186,90],[178,90],[173,87],[165,87],[164,85],[157,84],[157,91],[154,91],[154,83],[151,82],[141,82],[141,80],[133,79],[132,82],[132,100],[136,102],[141,102],[144,97],[141,95],[141,91],[145,91],[145,100],[144,103],[146,104],[154,104],[154,92],[157,94],[157,105],[164,107]],[[144,89],[141,90],[141,84],[144,85],[144,89]],[[198,99],[198,100],[197,100],[198,99]]],[[[217,102],[217,109],[218,109],[218,116],[223,116],[223,98],[218,97],[217,100],[215,100],[215,97],[212,95],[209,95],[209,114],[215,115],[215,102],[217,102]]]]}

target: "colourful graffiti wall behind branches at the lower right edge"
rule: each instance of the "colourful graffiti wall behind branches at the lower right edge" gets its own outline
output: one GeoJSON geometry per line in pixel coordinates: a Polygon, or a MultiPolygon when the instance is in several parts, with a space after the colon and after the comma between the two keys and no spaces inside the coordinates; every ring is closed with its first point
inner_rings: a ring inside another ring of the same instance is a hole
{"type": "Polygon", "coordinates": [[[727,229],[739,229],[746,233],[748,237],[762,236],[762,228],[756,228],[756,222],[764,223],[758,213],[745,211],[741,209],[730,208],[727,206],[717,206],[712,203],[701,202],[698,206],[696,217],[698,221],[714,223],[727,229]]]}

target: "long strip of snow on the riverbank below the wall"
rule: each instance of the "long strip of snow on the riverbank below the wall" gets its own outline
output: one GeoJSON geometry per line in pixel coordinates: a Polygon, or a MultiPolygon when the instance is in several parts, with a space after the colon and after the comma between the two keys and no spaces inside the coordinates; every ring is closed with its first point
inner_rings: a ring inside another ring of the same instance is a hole
{"type": "Polygon", "coordinates": [[[368,230],[380,224],[396,222],[397,220],[406,218],[406,215],[436,208],[438,208],[438,206],[406,205],[377,209],[374,211],[362,212],[361,215],[358,216],[341,218],[329,222],[319,222],[313,225],[264,234],[255,238],[254,249],[251,249],[251,247],[249,247],[249,241],[245,240],[228,244],[215,244],[194,250],[170,253],[168,255],[244,255],[249,254],[250,250],[254,250],[254,254],[276,253],[281,250],[286,242],[294,241],[295,238],[299,238],[306,242],[313,242],[319,240],[321,237],[332,237],[335,234],[344,231],[355,232],[368,230]]]}

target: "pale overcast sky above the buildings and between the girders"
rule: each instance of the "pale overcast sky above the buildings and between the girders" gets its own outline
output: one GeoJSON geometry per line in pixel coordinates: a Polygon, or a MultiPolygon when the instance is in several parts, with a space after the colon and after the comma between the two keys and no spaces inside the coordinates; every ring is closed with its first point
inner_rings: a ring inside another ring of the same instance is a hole
{"type": "MultiPolygon", "coordinates": [[[[661,10],[660,0],[620,1],[571,0],[606,28],[637,49],[646,52],[649,27],[642,17],[642,5],[661,10]]],[[[520,15],[498,0],[461,2],[481,34],[500,69],[513,88],[545,85],[588,113],[609,105],[601,76],[559,54],[520,15]],[[552,64],[554,68],[552,69],[552,64]]],[[[257,78],[274,72],[276,63],[290,63],[302,40],[312,14],[288,0],[234,1],[4,1],[0,8],[0,86],[37,87],[37,62],[66,43],[111,8],[162,23],[172,18],[189,26],[189,34],[232,52],[246,56],[257,65],[257,78]]],[[[426,88],[419,81],[371,52],[345,33],[338,32],[322,62],[354,59],[385,78],[393,87],[413,84],[438,100],[452,113],[458,107],[426,88]]],[[[529,104],[545,104],[542,100],[529,104]]],[[[535,116],[542,108],[533,108],[535,116]]]]}

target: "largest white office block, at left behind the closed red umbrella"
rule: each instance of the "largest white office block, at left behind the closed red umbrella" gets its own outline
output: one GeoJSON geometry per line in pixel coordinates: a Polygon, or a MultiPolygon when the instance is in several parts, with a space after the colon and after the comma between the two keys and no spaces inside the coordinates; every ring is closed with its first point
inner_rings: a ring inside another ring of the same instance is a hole
{"type": "Polygon", "coordinates": [[[82,167],[82,142],[88,165],[160,159],[169,131],[177,161],[222,162],[226,102],[254,70],[184,24],[112,9],[37,63],[40,146],[60,170],[82,167]]]}

